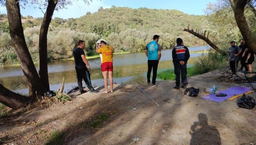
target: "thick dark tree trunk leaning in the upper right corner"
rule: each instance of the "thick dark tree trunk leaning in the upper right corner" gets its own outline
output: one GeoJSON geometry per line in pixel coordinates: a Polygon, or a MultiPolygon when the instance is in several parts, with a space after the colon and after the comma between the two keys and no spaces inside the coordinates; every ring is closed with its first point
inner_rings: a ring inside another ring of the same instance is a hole
{"type": "Polygon", "coordinates": [[[241,35],[243,36],[249,49],[251,49],[254,54],[256,54],[256,39],[254,38],[254,35],[250,30],[244,15],[245,5],[248,3],[248,0],[229,0],[229,2],[234,11],[236,23],[241,32],[241,35]]]}

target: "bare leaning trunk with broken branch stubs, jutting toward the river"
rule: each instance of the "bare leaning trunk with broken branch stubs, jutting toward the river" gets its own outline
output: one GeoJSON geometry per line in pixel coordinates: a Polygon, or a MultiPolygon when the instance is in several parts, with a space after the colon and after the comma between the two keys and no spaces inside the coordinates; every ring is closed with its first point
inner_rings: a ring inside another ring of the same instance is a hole
{"type": "MultiPolygon", "coordinates": [[[[190,29],[184,29],[183,31],[186,31],[186,32],[189,32],[191,33],[192,35],[200,38],[200,39],[203,39],[206,43],[208,43],[213,49],[215,49],[216,51],[218,51],[220,54],[223,54],[223,55],[226,55],[226,51],[223,51],[221,50],[219,47],[217,47],[213,42],[211,42],[211,40],[209,40],[207,37],[203,36],[203,35],[200,35],[199,33],[197,32],[194,32],[193,30],[190,30],[190,29]]],[[[206,32],[206,31],[205,31],[206,32]]]]}

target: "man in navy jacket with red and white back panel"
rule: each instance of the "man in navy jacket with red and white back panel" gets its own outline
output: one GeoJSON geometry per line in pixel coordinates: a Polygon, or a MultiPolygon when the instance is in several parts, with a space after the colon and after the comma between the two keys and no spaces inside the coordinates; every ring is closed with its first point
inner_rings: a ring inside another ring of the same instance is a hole
{"type": "Polygon", "coordinates": [[[181,76],[181,83],[182,88],[186,88],[188,86],[188,79],[187,79],[187,62],[189,60],[190,54],[188,47],[183,45],[183,41],[181,38],[177,38],[176,40],[177,46],[172,50],[172,59],[174,65],[174,74],[176,80],[176,86],[174,89],[180,89],[180,76],[181,76]]]}

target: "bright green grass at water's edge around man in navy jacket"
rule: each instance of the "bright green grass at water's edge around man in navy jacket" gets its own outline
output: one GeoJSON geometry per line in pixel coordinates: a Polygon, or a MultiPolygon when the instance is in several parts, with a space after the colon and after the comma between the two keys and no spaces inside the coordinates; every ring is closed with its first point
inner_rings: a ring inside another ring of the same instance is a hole
{"type": "MultiPolygon", "coordinates": [[[[200,75],[200,73],[196,71],[195,66],[189,67],[187,69],[187,72],[188,72],[187,74],[188,77],[200,75]]],[[[157,73],[157,77],[162,80],[175,80],[174,69],[167,69],[164,71],[160,71],[157,73]]]]}

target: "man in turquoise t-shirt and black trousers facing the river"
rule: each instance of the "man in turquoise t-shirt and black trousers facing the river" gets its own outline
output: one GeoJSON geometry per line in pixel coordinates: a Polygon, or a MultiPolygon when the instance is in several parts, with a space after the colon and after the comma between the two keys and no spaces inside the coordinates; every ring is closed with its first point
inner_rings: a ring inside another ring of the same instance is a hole
{"type": "Polygon", "coordinates": [[[159,40],[158,35],[154,35],[153,41],[149,42],[146,46],[146,56],[148,58],[148,72],[147,72],[147,84],[150,83],[150,75],[153,68],[152,87],[156,87],[156,74],[158,62],[161,58],[161,46],[157,43],[159,40]]]}

